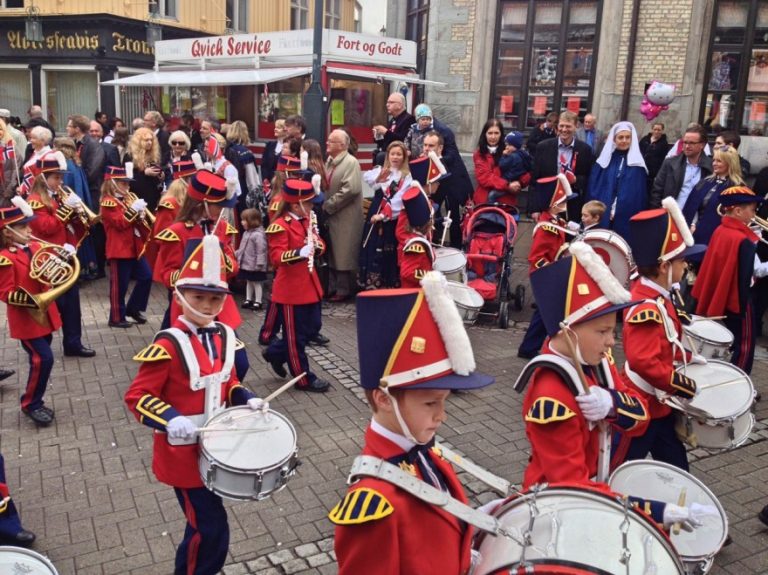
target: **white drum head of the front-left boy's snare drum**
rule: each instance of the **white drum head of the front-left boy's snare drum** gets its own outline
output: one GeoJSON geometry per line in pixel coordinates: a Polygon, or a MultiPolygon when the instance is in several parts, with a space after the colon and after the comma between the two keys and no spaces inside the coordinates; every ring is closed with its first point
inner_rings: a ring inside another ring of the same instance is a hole
{"type": "Polygon", "coordinates": [[[271,409],[265,416],[249,407],[232,407],[213,416],[205,427],[216,431],[200,434],[200,449],[232,469],[269,469],[296,450],[293,425],[271,409]]]}

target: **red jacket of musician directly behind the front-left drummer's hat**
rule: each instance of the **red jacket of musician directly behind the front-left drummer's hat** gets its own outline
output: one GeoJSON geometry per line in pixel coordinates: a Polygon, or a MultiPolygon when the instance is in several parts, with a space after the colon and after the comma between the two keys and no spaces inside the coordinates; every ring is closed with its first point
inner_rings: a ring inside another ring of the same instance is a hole
{"type": "MultiPolygon", "coordinates": [[[[227,262],[227,279],[237,275],[238,265],[235,252],[232,249],[233,237],[237,230],[225,221],[220,221],[216,226],[216,236],[219,238],[224,259],[227,262]]],[[[187,244],[191,241],[202,241],[203,229],[200,224],[192,222],[176,222],[157,234],[158,241],[157,260],[152,272],[152,279],[172,289],[176,278],[184,266],[187,255],[187,244]]],[[[181,308],[176,300],[171,302],[171,322],[181,314],[181,308]]],[[[237,329],[243,323],[240,311],[237,308],[232,294],[228,294],[224,301],[224,308],[218,315],[218,320],[232,329],[237,329]]]]}

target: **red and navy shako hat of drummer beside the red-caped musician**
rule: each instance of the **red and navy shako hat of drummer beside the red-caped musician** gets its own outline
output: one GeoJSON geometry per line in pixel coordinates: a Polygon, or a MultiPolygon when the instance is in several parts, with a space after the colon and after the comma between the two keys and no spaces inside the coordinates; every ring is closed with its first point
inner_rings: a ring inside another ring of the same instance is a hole
{"type": "Polygon", "coordinates": [[[629,220],[629,245],[638,266],[657,266],[661,262],[689,258],[707,246],[694,244],[683,212],[672,197],[656,210],[645,210],[629,220]]]}

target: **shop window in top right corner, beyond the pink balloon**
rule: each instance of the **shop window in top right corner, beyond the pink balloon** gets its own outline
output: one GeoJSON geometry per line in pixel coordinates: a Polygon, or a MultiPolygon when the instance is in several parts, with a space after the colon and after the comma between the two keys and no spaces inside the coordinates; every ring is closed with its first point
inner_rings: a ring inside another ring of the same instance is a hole
{"type": "Polygon", "coordinates": [[[768,0],[715,3],[701,121],[768,136],[768,0]]]}

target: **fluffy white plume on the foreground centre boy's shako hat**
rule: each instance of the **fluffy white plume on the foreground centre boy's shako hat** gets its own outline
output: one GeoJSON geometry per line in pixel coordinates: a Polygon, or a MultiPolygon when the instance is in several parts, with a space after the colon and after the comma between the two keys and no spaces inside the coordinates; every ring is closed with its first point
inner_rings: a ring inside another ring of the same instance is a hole
{"type": "Polygon", "coordinates": [[[440,337],[454,372],[469,375],[475,371],[475,356],[459,310],[451,299],[445,276],[438,271],[427,272],[421,280],[429,311],[435,319],[440,337]]]}

